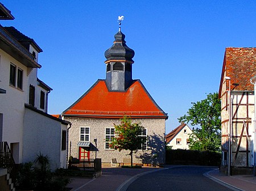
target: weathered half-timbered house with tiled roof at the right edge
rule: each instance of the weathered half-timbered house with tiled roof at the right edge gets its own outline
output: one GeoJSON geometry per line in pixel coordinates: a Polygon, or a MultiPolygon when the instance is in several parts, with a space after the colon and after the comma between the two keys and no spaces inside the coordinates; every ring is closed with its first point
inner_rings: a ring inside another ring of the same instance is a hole
{"type": "Polygon", "coordinates": [[[222,170],[235,174],[254,164],[254,86],[256,48],[226,48],[222,66],[221,99],[222,170]]]}

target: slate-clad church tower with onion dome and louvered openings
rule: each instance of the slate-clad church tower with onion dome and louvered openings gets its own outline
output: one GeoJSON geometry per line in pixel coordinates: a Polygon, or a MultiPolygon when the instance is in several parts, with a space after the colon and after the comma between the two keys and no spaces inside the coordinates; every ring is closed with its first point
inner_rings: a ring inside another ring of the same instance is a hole
{"type": "Polygon", "coordinates": [[[134,50],[126,45],[121,29],[115,34],[114,44],[105,52],[106,84],[110,91],[126,91],[133,82],[134,50]]]}

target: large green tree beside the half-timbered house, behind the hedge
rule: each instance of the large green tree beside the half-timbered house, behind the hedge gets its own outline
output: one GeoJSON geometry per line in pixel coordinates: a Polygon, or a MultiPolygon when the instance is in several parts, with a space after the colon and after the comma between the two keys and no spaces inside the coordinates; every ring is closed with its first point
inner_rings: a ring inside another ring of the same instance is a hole
{"type": "Polygon", "coordinates": [[[193,128],[189,141],[192,150],[220,151],[221,147],[221,101],[218,94],[208,94],[207,99],[192,103],[187,115],[178,118],[179,122],[191,122],[192,126],[200,125],[200,128],[193,128]]]}

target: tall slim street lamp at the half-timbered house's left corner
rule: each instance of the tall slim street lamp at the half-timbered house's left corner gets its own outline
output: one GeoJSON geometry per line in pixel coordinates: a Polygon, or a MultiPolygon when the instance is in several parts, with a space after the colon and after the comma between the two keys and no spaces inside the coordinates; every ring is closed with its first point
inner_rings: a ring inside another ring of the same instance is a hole
{"type": "Polygon", "coordinates": [[[231,168],[231,157],[232,157],[232,147],[231,147],[231,139],[232,139],[232,126],[231,126],[231,120],[232,120],[232,113],[231,113],[231,78],[225,77],[226,80],[229,80],[229,160],[228,160],[228,176],[231,175],[230,168],[231,168]]]}

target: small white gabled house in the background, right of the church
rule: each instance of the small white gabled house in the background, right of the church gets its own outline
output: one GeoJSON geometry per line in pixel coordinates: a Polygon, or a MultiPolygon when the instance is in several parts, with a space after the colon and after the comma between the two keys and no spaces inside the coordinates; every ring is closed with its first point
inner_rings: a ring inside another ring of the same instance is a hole
{"type": "Polygon", "coordinates": [[[181,123],[177,128],[172,130],[166,135],[167,146],[172,149],[189,149],[189,136],[192,134],[192,130],[187,124],[181,123]]]}

